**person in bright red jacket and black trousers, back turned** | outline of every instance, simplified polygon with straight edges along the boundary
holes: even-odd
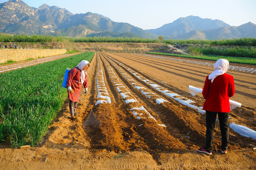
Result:
[[[230,63],[226,59],[218,59],[212,74],[206,77],[203,86],[203,110],[206,111],[206,141],[205,147],[197,151],[212,154],[212,139],[216,116],[221,128],[221,153],[227,153],[229,145],[229,99],[235,94],[234,78],[226,74]]]

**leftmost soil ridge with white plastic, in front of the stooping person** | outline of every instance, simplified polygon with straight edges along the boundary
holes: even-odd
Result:
[[[94,112],[90,112],[84,125],[90,127],[92,136],[92,147],[96,149],[107,149],[115,152],[126,151],[129,144],[123,139],[122,122],[119,122],[120,111],[115,103],[112,103],[109,94],[109,86],[106,81],[105,70],[97,54],[96,85],[97,102]],[[113,98],[113,97],[112,97]]]

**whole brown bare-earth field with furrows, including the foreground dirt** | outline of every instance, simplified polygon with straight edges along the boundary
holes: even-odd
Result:
[[[101,99],[97,97],[98,68],[103,70],[111,104],[95,106],[95,102]],[[256,152],[251,150],[256,141],[240,136],[232,129],[228,154],[217,152],[221,142],[217,122],[213,155],[197,153],[196,149],[204,144],[205,115],[156,91],[130,72],[137,72],[141,77],[202,105],[202,97],[192,97],[186,88],[187,85],[202,87],[204,77],[211,70],[209,67],[135,54],[98,53],[88,70],[89,93],[81,94],[94,112],[90,113],[88,107],[80,102],[80,113],[75,120],[71,120],[66,101],[59,116],[36,147],[11,149],[1,146],[0,169],[256,169]],[[235,78],[237,89],[233,100],[244,105],[230,113],[230,121],[256,130],[256,76],[239,72],[230,74]],[[138,102],[126,103],[116,88],[117,81],[122,84],[118,86],[119,89],[129,91]],[[149,98],[141,93],[138,86],[152,96]],[[168,102],[157,104],[157,98]],[[136,104],[142,105],[155,120],[150,117],[137,119],[130,110]]]

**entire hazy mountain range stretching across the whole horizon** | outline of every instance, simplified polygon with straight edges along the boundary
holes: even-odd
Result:
[[[256,38],[256,25],[249,22],[230,26],[215,19],[196,16],[180,17],[157,29],[143,30],[128,23],[119,23],[100,14],[73,14],[67,9],[43,4],[28,6],[22,0],[0,3],[0,32],[7,34],[49,34],[71,37],[138,37],[155,39],[233,39]]]

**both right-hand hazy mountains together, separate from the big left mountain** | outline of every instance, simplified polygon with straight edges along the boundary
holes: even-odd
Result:
[[[196,16],[180,17],[172,23],[146,31],[171,39],[256,38],[256,25],[251,22],[241,26],[230,26],[218,19],[203,19]]]

